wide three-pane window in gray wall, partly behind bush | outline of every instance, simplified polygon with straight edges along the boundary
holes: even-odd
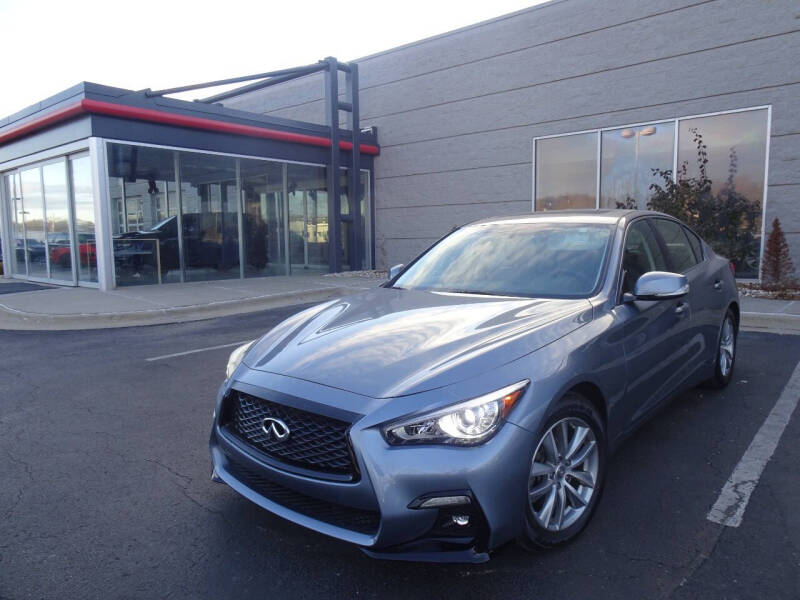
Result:
[[[757,277],[768,122],[767,108],[753,108],[538,138],[535,209],[659,209],[672,204],[677,178],[686,206],[676,216],[730,258],[737,276]]]

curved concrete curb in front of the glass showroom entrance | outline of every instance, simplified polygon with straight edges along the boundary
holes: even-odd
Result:
[[[53,315],[19,311],[0,306],[0,329],[14,331],[65,331],[112,329],[143,325],[185,323],[246,314],[310,302],[324,302],[361,291],[356,287],[330,287],[303,292],[270,294],[209,304],[156,308],[132,312]]]

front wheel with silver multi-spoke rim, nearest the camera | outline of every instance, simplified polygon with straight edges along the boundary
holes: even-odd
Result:
[[[561,437],[564,424],[566,444]],[[565,459],[560,450],[563,447],[569,450],[571,443],[580,437],[579,428],[588,431],[580,433],[584,436],[583,441],[569,455],[569,459]],[[552,438],[549,437],[551,435]],[[564,396],[555,412],[545,421],[536,440],[531,454],[523,535],[519,539],[520,545],[528,550],[554,548],[575,539],[591,520],[602,496],[606,477],[607,448],[603,420],[594,405],[581,394],[569,392]],[[590,444],[593,444],[593,450],[587,451]],[[578,463],[581,455],[584,460]],[[545,506],[550,502],[551,495],[554,506],[548,516]],[[583,506],[581,502],[584,502]],[[560,514],[559,506],[563,507]],[[561,520],[557,522],[559,517]],[[548,526],[545,527],[544,523]]]

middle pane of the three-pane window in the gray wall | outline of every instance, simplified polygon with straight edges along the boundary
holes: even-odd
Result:
[[[647,209],[650,184],[672,176],[675,123],[608,129],[600,140],[600,207]]]

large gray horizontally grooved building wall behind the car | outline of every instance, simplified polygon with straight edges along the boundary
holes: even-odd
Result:
[[[407,262],[456,222],[530,209],[531,142],[772,105],[767,218],[800,264],[796,0],[564,0],[359,60],[377,125],[376,257]],[[299,81],[231,106],[308,119]],[[478,207],[478,208],[476,208]]]

